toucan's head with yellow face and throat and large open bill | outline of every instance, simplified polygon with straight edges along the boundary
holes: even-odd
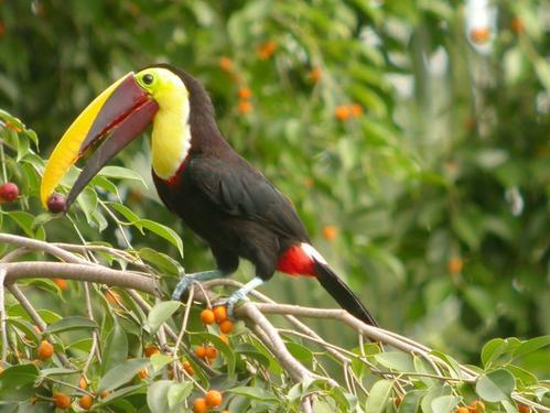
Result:
[[[192,106],[203,107],[202,111],[213,119],[202,86],[169,65],[150,66],[115,81],[84,109],[52,152],[42,178],[42,204],[47,205],[71,165],[91,152],[71,188],[65,206],[68,208],[99,170],[150,123],[153,170],[159,177],[169,180],[191,148]]]

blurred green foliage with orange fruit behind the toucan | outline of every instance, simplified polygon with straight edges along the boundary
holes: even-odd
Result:
[[[490,337],[550,334],[550,9],[492,4],[0,1],[0,107],[46,156],[114,79],[155,62],[188,70],[380,324],[475,362]],[[150,182],[147,145],[119,162]],[[187,271],[213,267],[151,184],[120,191],[184,233]],[[69,233],[60,220],[46,230]],[[237,278],[250,276],[241,265]],[[309,280],[262,290],[334,306]],[[316,326],[333,343],[353,337],[331,327]],[[548,373],[550,354],[538,357],[531,368]]]

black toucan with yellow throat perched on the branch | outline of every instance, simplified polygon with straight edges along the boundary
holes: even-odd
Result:
[[[161,200],[212,249],[217,268],[183,274],[172,295],[193,281],[234,273],[249,260],[256,276],[227,300],[228,312],[276,271],[315,278],[352,315],[376,326],[373,315],[334,272],[294,207],[224,139],[204,87],[168,64],[129,73],[76,118],[45,166],[41,200],[46,207],[71,165],[90,152],[71,187],[68,208],[107,162],[152,123],[152,177]]]

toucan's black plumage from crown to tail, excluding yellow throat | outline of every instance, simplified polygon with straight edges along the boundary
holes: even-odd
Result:
[[[291,202],[223,138],[202,85],[170,65],[157,66],[172,70],[185,84],[191,128],[191,149],[177,176],[164,181],[153,171],[161,199],[209,244],[220,271],[234,272],[239,258],[245,258],[256,267],[256,275],[269,280],[289,249],[310,243],[303,224]],[[345,309],[376,325],[326,263],[311,261],[315,274],[309,275],[316,275]]]

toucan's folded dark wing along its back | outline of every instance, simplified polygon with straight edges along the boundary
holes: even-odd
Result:
[[[185,178],[226,214],[261,222],[282,236],[308,240],[289,198],[244,159],[226,162],[194,157],[185,169]]]

